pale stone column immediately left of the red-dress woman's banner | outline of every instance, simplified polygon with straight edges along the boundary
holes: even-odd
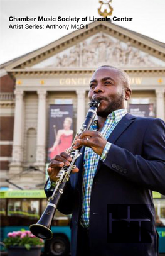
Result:
[[[38,90],[38,127],[36,141],[36,163],[40,170],[45,169],[46,157],[46,90]]]

